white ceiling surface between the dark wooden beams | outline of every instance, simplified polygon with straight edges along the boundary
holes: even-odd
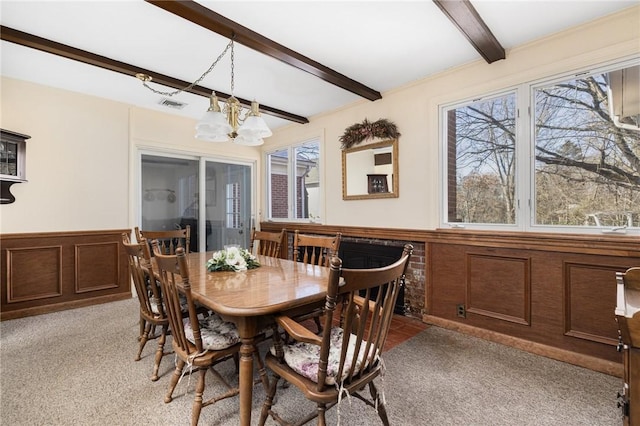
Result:
[[[483,60],[431,1],[199,1],[203,6],[384,94]],[[637,5],[637,0],[472,0],[500,44],[520,44]],[[3,26],[193,82],[228,40],[142,0],[0,1]],[[200,118],[206,98],[181,93],[182,110],[133,77],[2,41],[3,76]],[[491,66],[487,64],[487,66]],[[227,55],[200,85],[230,93]],[[159,90],[174,89],[156,86]],[[276,59],[235,46],[235,91],[312,117],[362,98]],[[368,102],[368,101],[367,101]],[[263,115],[272,128],[283,119]]]

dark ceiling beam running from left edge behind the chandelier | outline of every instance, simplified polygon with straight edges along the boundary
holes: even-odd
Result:
[[[147,74],[153,78],[154,83],[172,87],[174,89],[185,89],[190,85],[189,82],[183,80],[178,80],[176,78],[160,74],[155,71],[116,61],[114,59],[107,58],[106,56],[96,55],[95,53],[87,52],[86,50],[77,49],[66,44],[38,37],[33,34],[25,33],[10,27],[5,27],[4,25],[0,25],[0,39],[22,46],[30,47],[32,49],[40,50],[42,52],[62,56],[67,59],[73,59],[85,64],[94,65],[96,67],[100,67],[109,71],[129,75],[131,77],[135,77],[138,73]],[[212,89],[204,86],[193,86],[192,88],[185,90],[185,92],[204,96],[206,98],[211,95],[212,91]],[[216,95],[221,99],[227,99],[230,96],[226,93],[218,92],[217,90]],[[242,98],[237,99],[242,105],[245,105],[247,107],[251,106],[250,100]],[[277,108],[272,108],[263,104],[260,104],[260,112],[271,115],[273,117],[293,121],[295,123],[306,124],[309,122],[306,117],[282,111]]]

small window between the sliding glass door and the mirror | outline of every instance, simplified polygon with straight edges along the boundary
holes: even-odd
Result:
[[[267,153],[268,219],[320,218],[320,142]]]

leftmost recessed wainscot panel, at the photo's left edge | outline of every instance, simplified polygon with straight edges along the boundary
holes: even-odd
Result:
[[[7,249],[7,303],[62,295],[62,246]]]

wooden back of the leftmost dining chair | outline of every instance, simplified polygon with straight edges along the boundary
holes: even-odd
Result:
[[[129,260],[129,272],[138,296],[141,314],[146,319],[164,317],[160,289],[156,280],[150,279],[153,277],[153,266],[149,244],[144,238],[135,243],[131,242],[127,233],[122,234],[122,244]],[[156,307],[157,314],[154,314],[152,304]]]

